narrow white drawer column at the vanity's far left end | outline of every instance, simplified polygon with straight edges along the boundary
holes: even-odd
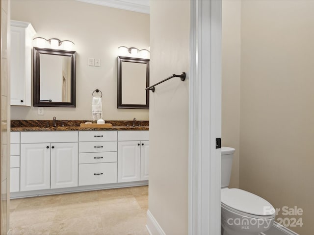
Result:
[[[20,132],[11,132],[10,192],[20,191]]]

